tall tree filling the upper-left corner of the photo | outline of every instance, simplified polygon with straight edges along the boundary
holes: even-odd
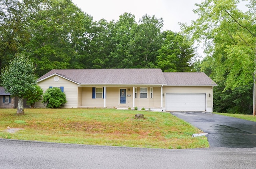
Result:
[[[0,0],[0,70],[29,42],[29,13],[38,1]]]

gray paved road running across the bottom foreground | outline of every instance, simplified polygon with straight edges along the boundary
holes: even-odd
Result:
[[[255,169],[256,148],[146,149],[0,139],[0,169]]]

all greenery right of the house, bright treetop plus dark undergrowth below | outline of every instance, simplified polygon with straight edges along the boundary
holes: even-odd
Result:
[[[194,10],[198,19],[182,25],[194,40],[204,41],[208,55],[197,69],[218,84],[214,87],[214,111],[248,114],[252,111],[255,71],[255,1],[247,11],[238,8],[240,0],[204,0]]]

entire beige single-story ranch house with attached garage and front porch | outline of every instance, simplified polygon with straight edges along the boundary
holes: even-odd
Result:
[[[53,69],[38,80],[45,91],[58,87],[65,108],[162,108],[212,112],[216,83],[201,72],[161,69]],[[36,108],[45,107],[42,100]]]

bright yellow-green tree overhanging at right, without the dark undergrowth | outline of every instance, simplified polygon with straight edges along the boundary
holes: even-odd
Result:
[[[250,1],[247,12],[238,9],[239,2],[204,0],[194,10],[199,18],[191,26],[182,25],[194,39],[205,41],[205,52],[216,64],[213,79],[225,85],[223,92],[241,87],[249,90],[245,86],[255,84],[255,1]]]

